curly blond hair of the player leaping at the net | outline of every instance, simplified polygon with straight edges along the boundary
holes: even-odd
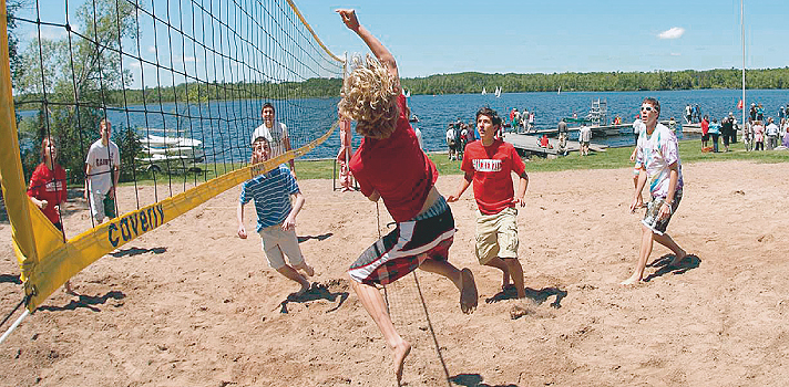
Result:
[[[371,55],[355,56],[353,69],[342,82],[340,116],[357,122],[356,132],[365,137],[388,138],[394,132],[400,94],[398,80]]]

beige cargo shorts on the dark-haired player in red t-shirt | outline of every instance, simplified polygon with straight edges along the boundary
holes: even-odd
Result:
[[[518,210],[505,208],[499,213],[477,212],[477,260],[486,264],[492,259],[518,258]]]

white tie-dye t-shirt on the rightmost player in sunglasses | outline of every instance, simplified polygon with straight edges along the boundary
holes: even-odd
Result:
[[[654,198],[668,196],[670,177],[668,166],[674,163],[677,163],[678,172],[676,190],[680,190],[683,188],[683,166],[679,163],[677,136],[663,124],[657,124],[652,135],[644,130],[638,136],[636,165],[643,165],[646,169],[646,181]]]

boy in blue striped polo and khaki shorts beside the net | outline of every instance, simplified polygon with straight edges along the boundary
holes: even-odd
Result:
[[[271,148],[265,137],[255,138],[252,163],[267,160]],[[290,205],[291,195],[295,197],[294,205]],[[309,281],[298,271],[304,271],[308,276],[312,276],[315,271],[301,255],[296,238],[296,215],[301,210],[305,201],[296,179],[285,165],[280,165],[244,182],[237,211],[240,239],[247,238],[244,228],[244,205],[252,199],[255,199],[257,212],[257,233],[263,240],[263,251],[266,252],[268,263],[274,270],[301,285],[295,295],[304,294],[309,290]],[[285,263],[284,255],[288,257],[290,264]]]

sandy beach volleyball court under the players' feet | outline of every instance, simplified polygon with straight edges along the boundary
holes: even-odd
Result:
[[[518,216],[526,301],[477,263],[467,191],[451,206],[450,261],[474,272],[480,304],[462,314],[454,286],[421,271],[387,287],[413,345],[403,384],[788,385],[788,166],[684,166],[668,233],[693,257],[669,270],[656,244],[648,281],[629,287],[619,282],[641,236],[631,169],[530,174]],[[449,195],[461,178],[441,176],[438,188]],[[79,296],[55,292],[0,345],[0,385],[396,386],[391,353],[346,275],[378,238],[376,205],[330,180],[299,185],[297,233],[316,269],[307,295],[289,297],[298,285],[268,266],[257,236],[238,239],[234,188],[86,268],[72,279]],[[132,203],[134,188],[120,200]],[[81,198],[65,213],[66,233],[90,227]],[[390,221],[381,205],[382,232]],[[0,222],[2,316],[22,297],[10,239]],[[514,306],[525,315],[511,318]]]

